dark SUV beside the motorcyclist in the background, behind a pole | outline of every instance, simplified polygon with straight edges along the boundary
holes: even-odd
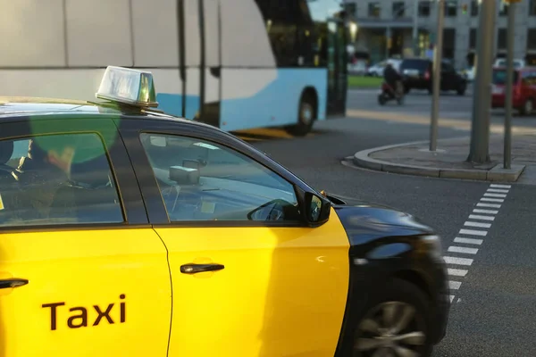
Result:
[[[404,83],[404,89],[408,93],[411,89],[427,89],[432,91],[432,69],[431,60],[426,58],[406,58],[400,63],[399,71]],[[456,91],[458,95],[465,95],[467,80],[462,77],[454,66],[443,60],[441,62],[441,83],[440,90]]]

